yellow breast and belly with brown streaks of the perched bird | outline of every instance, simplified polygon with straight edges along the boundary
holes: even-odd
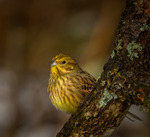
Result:
[[[81,98],[74,97],[74,93],[67,88],[69,84],[69,81],[58,78],[56,82],[51,82],[48,90],[50,90],[49,97],[51,102],[57,109],[73,113],[76,111]]]

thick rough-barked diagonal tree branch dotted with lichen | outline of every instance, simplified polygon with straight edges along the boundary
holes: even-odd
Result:
[[[87,96],[57,137],[107,137],[132,104],[149,111],[150,2],[128,0],[97,88]]]

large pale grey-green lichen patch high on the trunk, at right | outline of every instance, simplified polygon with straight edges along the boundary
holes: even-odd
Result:
[[[135,50],[141,51],[142,47],[140,46],[140,44],[137,44],[134,41],[132,41],[127,45],[127,51],[128,51],[127,56],[130,57],[132,61],[133,58],[139,58],[138,53]]]

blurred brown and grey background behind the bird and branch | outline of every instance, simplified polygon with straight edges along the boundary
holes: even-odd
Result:
[[[95,78],[111,54],[124,0],[0,0],[0,137],[54,137],[69,118],[48,97],[51,58],[72,55]],[[150,117],[112,137],[149,137]]]

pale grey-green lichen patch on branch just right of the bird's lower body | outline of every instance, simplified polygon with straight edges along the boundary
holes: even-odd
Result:
[[[103,96],[100,98],[98,102],[98,107],[105,107],[109,101],[112,99],[117,99],[117,95],[115,93],[110,93],[107,88],[104,89]]]

